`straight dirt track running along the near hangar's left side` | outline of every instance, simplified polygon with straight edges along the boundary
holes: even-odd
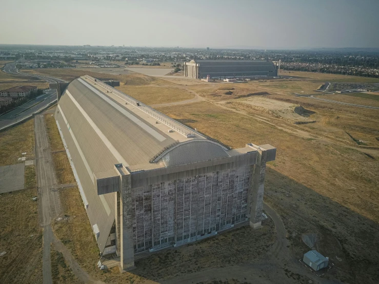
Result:
[[[50,191],[50,188],[56,186],[57,182],[43,115],[36,115],[34,118],[34,134],[39,196],[38,216],[39,225],[44,228],[43,283],[50,284],[52,283],[50,244],[54,237],[50,223],[61,212],[61,203],[59,202],[59,192]]]

